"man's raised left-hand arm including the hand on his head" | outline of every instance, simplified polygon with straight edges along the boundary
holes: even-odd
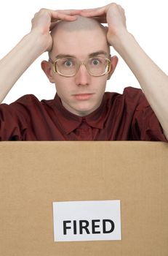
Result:
[[[50,31],[57,20],[76,20],[79,10],[52,11],[41,9],[32,20],[31,32],[0,61],[0,102],[7,96],[23,72],[41,53],[52,48]]]

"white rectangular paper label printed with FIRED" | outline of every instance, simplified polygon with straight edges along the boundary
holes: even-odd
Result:
[[[55,241],[121,240],[120,200],[54,202]]]

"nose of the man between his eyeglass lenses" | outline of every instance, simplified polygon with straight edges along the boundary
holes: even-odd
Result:
[[[81,64],[79,70],[75,76],[75,81],[77,86],[89,86],[90,83],[90,75],[87,72],[87,68],[84,64]]]

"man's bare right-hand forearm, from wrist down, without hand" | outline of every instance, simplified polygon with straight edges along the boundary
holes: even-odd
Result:
[[[167,75],[140,48],[132,34],[124,31],[119,37],[113,39],[113,47],[139,81],[168,139]]]

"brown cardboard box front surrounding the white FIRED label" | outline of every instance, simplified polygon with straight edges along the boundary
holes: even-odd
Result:
[[[53,201],[121,200],[121,241],[54,242]],[[168,145],[0,143],[1,256],[167,256]]]

